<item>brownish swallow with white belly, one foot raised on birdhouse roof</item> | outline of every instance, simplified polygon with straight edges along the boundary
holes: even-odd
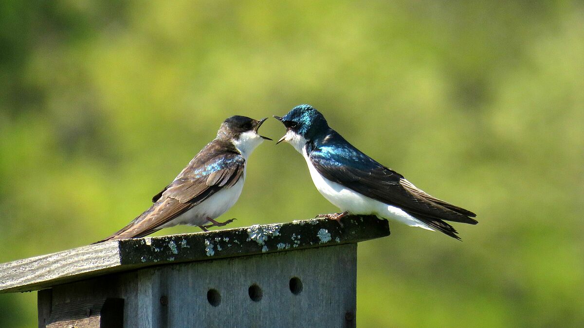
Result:
[[[267,118],[232,116],[221,124],[217,137],[194,156],[175,180],[152,198],[154,203],[130,224],[106,239],[140,238],[179,224],[203,231],[224,226],[215,221],[238,200],[244,187],[246,162],[264,139],[258,128]],[[209,225],[205,225],[208,224]]]

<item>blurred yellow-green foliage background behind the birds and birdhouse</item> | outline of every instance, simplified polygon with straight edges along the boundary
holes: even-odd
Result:
[[[0,262],[104,238],[224,118],[310,103],[478,214],[464,242],[390,222],[361,243],[359,326],[581,327],[583,76],[582,2],[2,1]],[[335,210],[266,142],[223,219]],[[35,325],[36,293],[0,295],[1,327]]]

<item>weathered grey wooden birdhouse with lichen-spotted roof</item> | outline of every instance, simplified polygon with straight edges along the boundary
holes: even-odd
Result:
[[[357,242],[346,217],[124,239],[0,264],[0,292],[39,290],[39,327],[354,327]]]

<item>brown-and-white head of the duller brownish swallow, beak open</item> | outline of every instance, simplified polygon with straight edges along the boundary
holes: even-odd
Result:
[[[258,134],[259,127],[266,120],[267,117],[258,121],[247,116],[231,116],[221,124],[217,138],[231,141],[235,148],[247,157],[264,140],[272,140]]]

